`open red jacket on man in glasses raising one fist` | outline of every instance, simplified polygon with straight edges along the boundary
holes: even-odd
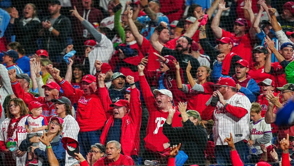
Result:
[[[122,151],[125,155],[139,155],[139,143],[140,143],[140,126],[142,108],[140,101],[140,91],[137,88],[131,89],[130,98],[130,111],[124,117],[122,117],[122,135],[120,143],[122,145]],[[114,117],[111,116],[106,122],[102,134],[100,136],[100,143],[105,145],[105,142],[110,126],[113,126]]]

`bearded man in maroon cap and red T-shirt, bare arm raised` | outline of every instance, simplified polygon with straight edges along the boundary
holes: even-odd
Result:
[[[237,18],[234,22],[233,33],[227,32],[219,27],[222,12],[228,9],[229,8],[226,8],[226,3],[224,1],[219,2],[218,12],[215,14],[211,22],[212,31],[218,39],[222,37],[231,38],[233,40],[232,52],[238,54],[242,59],[247,60],[249,64],[251,64],[253,62],[251,56],[252,46],[250,44],[249,33],[246,34],[246,29],[248,28],[247,20],[243,18]]]

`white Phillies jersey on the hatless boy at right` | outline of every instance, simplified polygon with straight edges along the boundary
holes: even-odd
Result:
[[[259,142],[256,141],[256,139],[262,138],[265,133],[272,132],[271,125],[266,124],[266,121],[264,121],[264,117],[259,119],[256,122],[251,121],[250,122],[250,140],[253,140],[253,145],[249,147],[250,154],[259,155],[262,154],[262,150],[260,148],[260,144],[263,143],[264,145],[269,146],[272,143],[272,140],[269,142]],[[272,134],[271,134],[272,135]]]

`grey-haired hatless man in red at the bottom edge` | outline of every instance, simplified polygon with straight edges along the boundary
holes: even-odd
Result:
[[[104,165],[135,165],[131,157],[122,155],[121,144],[117,141],[109,141],[106,145],[106,157],[97,160],[93,166]]]

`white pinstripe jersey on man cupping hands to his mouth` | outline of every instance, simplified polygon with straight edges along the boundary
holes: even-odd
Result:
[[[243,139],[249,139],[249,120],[251,103],[244,94],[236,93],[226,102],[235,107],[242,107],[247,110],[247,113],[242,118],[234,117],[224,109],[224,105],[217,102],[213,110],[214,126],[213,135],[215,145],[228,145],[224,143],[226,137],[230,138],[232,133],[234,143]]]

